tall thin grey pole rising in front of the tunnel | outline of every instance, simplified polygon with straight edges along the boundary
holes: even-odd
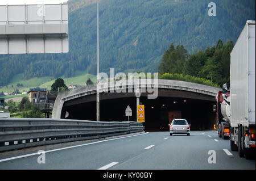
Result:
[[[98,12],[98,0],[97,0],[97,100],[96,100],[96,106],[97,106],[97,113],[96,113],[96,119],[97,121],[100,121],[100,92],[98,90],[98,82],[100,74],[100,33],[99,33],[99,12]]]

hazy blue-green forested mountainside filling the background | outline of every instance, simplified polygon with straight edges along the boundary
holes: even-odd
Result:
[[[69,53],[0,56],[0,86],[15,74],[72,77],[76,70],[96,74],[95,0],[69,2]],[[255,0],[101,0],[100,71],[158,71],[171,43],[188,53],[221,39],[236,43],[247,19],[255,19]]]

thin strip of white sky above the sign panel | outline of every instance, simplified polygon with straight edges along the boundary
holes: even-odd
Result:
[[[67,2],[68,0],[0,0],[0,5],[40,5]]]

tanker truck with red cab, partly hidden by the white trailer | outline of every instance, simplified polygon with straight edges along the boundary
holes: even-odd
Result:
[[[213,106],[213,111],[217,113],[218,137],[225,140],[230,136],[230,91],[227,89],[226,84],[222,88],[223,91],[219,91],[216,96],[217,105]]]

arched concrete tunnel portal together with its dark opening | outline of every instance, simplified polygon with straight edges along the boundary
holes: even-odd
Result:
[[[111,83],[109,83],[111,85]],[[131,85],[130,85],[131,86]],[[125,109],[129,105],[133,111],[130,120],[137,120],[137,96],[135,85],[133,92],[113,91],[116,87],[108,86],[100,94],[100,120],[124,121]],[[146,85],[139,85],[143,89]],[[153,86],[153,85],[152,85]],[[128,89],[122,87],[122,89]],[[168,124],[174,118],[187,119],[191,130],[213,129],[216,124],[216,114],[213,104],[219,88],[197,83],[158,79],[158,96],[148,99],[151,93],[142,92],[139,102],[145,106],[146,131],[168,130]],[[96,120],[96,86],[64,92],[57,96],[52,117],[55,119]]]

